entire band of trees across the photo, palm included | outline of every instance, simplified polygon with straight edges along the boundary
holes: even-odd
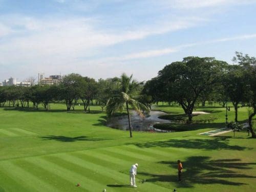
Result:
[[[225,106],[231,101],[236,122],[239,103],[252,107],[249,129],[255,137],[251,121],[256,114],[256,58],[236,52],[233,62],[235,65],[214,57],[185,57],[166,65],[145,83],[125,74],[96,81],[72,73],[63,77],[59,86],[1,87],[0,106],[8,103],[25,108],[32,102],[33,108],[42,104],[49,110],[50,103],[64,102],[70,111],[81,101],[84,111],[90,113],[90,104],[95,100],[102,111],[106,107],[108,115],[125,108],[129,116],[130,107],[143,116],[141,112],[148,111],[152,103],[177,102],[188,117],[187,123],[191,123],[196,102],[204,105],[205,101],[217,101]]]

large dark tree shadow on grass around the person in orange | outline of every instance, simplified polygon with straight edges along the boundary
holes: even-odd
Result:
[[[160,164],[167,164],[177,169],[176,162],[160,161]],[[177,187],[194,187],[194,184],[222,184],[222,185],[245,185],[243,178],[256,178],[246,174],[240,174],[241,169],[251,169],[250,165],[256,163],[243,163],[240,159],[218,159],[210,160],[206,156],[188,157],[182,162],[185,171],[182,174],[182,181],[178,182],[177,175],[158,175],[150,173],[140,173],[148,177],[150,182],[175,182]],[[232,170],[230,170],[232,169]],[[236,170],[237,169],[237,170]],[[241,178],[240,182],[233,181],[232,178]]]

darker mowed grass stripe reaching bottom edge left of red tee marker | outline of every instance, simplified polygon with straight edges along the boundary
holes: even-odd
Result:
[[[42,167],[37,161],[31,160],[31,158],[26,158],[19,160],[24,166],[29,167],[28,172],[30,172],[35,177],[39,177],[51,185],[57,187],[60,191],[72,191],[74,190],[75,184],[70,182],[68,179],[60,178],[52,170],[47,170],[46,167]]]

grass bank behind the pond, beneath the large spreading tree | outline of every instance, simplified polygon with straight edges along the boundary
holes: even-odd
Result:
[[[160,118],[168,119],[172,121],[172,123],[159,123],[154,125],[157,129],[162,130],[172,130],[172,131],[189,131],[189,130],[198,130],[203,128],[211,128],[211,129],[219,129],[225,127],[225,115],[226,109],[220,108],[220,106],[205,106],[198,107],[195,112],[203,111],[210,114],[204,115],[195,115],[193,117],[193,124],[186,124],[187,115],[184,114],[184,111],[181,107],[174,106],[170,107],[168,105],[158,105],[153,106],[153,110],[159,110],[166,113],[167,115],[163,115]],[[250,109],[251,110],[251,109]],[[228,122],[234,122],[234,109],[231,107],[230,111],[227,111]],[[248,120],[248,108],[241,107],[238,109],[238,121],[240,123],[247,122]],[[256,121],[253,121],[254,126],[256,125]]]

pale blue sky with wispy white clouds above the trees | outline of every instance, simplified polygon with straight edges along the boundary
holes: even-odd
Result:
[[[0,82],[78,73],[139,81],[187,56],[256,56],[256,0],[0,0]]]

